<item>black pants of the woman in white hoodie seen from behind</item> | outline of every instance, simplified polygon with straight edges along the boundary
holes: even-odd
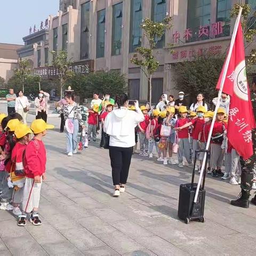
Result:
[[[126,184],[132,159],[132,153],[133,147],[109,147],[109,156],[111,161],[112,179],[114,186],[119,185],[120,183]]]

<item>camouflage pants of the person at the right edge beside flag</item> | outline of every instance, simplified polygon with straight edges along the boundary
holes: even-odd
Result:
[[[256,170],[256,130],[252,130],[252,143],[253,143],[253,155],[244,160],[241,157],[241,189],[247,192],[247,197],[250,197],[250,191],[252,190],[253,172]]]

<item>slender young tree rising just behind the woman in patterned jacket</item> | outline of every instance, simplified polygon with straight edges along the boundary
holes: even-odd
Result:
[[[69,67],[72,66],[73,62],[71,59],[68,59],[68,53],[66,51],[51,51],[53,55],[52,67],[57,71],[57,77],[60,83],[60,97],[62,97],[62,90],[66,82],[72,78],[75,73],[69,70]]]

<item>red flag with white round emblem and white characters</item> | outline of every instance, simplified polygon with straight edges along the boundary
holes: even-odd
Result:
[[[220,89],[224,67],[219,77],[217,89]],[[241,22],[238,25],[223,92],[230,95],[227,130],[228,140],[240,156],[248,159],[253,154],[251,131],[255,127],[255,120],[252,113],[250,90],[246,78],[244,39]]]

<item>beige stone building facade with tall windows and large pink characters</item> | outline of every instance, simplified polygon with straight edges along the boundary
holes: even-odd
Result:
[[[161,93],[175,94],[176,62],[196,54],[223,53],[230,43],[234,19],[230,9],[235,3],[254,0],[76,0],[60,1],[60,11],[49,18],[48,44],[34,45],[34,68],[39,74],[46,66],[45,52],[67,50],[77,65],[77,73],[117,70],[126,74],[131,99],[148,100],[148,81],[130,62],[138,46],[147,45],[141,22],[145,18],[162,21],[173,17],[173,27],[157,38],[155,55],[159,67],[153,77],[153,102]],[[63,2],[69,5],[64,8]],[[66,5],[65,5],[66,6]],[[174,53],[166,51],[174,43]],[[51,54],[47,61],[51,62]],[[43,71],[45,73],[45,71]]]

